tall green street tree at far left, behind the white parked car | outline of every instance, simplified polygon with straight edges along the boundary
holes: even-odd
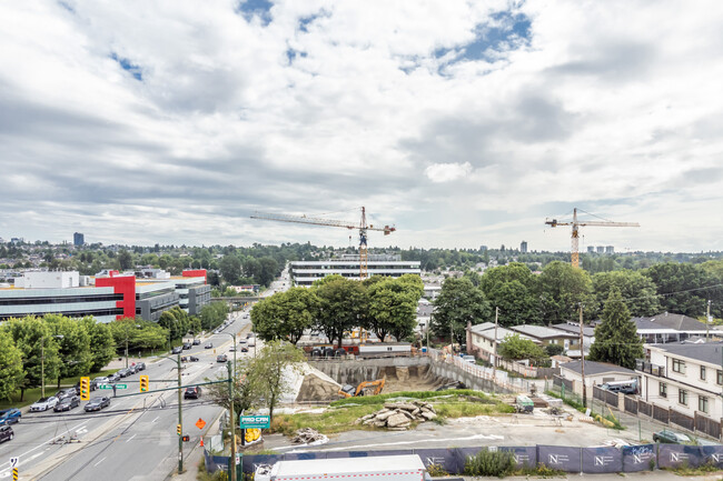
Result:
[[[42,383],[43,351],[46,379],[58,378],[60,368],[58,343],[52,337],[50,328],[41,319],[32,315],[3,322],[2,329],[10,333],[14,345],[21,353],[22,370],[26,373],[19,385],[20,401],[22,401],[26,390],[37,388]]]

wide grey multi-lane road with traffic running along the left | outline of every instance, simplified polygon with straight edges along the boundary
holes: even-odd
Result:
[[[202,382],[205,378],[226,374],[226,364],[217,363],[216,355],[227,353],[231,337],[248,331],[250,321],[245,313],[231,313],[232,322],[221,333],[204,339],[201,345],[184,351],[182,355],[197,355],[198,362],[182,364],[184,385]],[[212,342],[216,349],[204,349]],[[237,352],[237,357],[252,355]],[[175,357],[174,357],[175,358]],[[128,390],[117,394],[138,392],[139,375],[150,378],[150,389],[177,385],[177,363],[174,359],[158,359],[147,362],[141,373],[131,374],[119,383],[127,383]],[[112,391],[97,390],[91,398]],[[9,459],[19,458],[20,479],[56,480],[159,480],[165,479],[178,464],[178,394],[176,390],[162,393],[115,398],[109,408],[100,412],[86,413],[80,408],[65,413],[47,411],[28,413],[20,423],[13,424],[16,438],[0,444],[0,481],[10,479]],[[184,433],[191,437],[184,443],[186,452],[199,442],[201,433],[195,423],[199,418],[208,425],[220,414],[221,409],[201,398],[182,402]],[[206,427],[207,429],[208,427]],[[71,437],[77,441],[63,442]]]

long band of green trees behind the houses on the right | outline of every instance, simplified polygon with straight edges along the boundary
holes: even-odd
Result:
[[[488,269],[483,275],[469,272],[444,281],[435,300],[433,330],[437,335],[463,342],[467,322],[494,321],[499,309],[502,325],[552,324],[578,319],[598,319],[613,291],[617,291],[633,317],[663,311],[694,318],[723,317],[723,261],[701,264],[662,263],[643,271],[621,270],[590,275],[570,263],[554,261],[541,274],[513,262]]]

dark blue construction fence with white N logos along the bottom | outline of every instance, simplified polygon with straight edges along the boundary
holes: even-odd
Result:
[[[658,468],[697,468],[715,465],[723,468],[723,445],[679,445],[679,444],[641,444],[621,449],[612,447],[578,448],[565,445],[526,445],[526,447],[474,447],[439,448],[387,451],[320,451],[287,454],[244,455],[241,467],[245,473],[252,473],[260,464],[274,464],[283,460],[374,458],[377,455],[418,454],[425,467],[435,464],[449,474],[463,474],[468,457],[483,449],[509,451],[517,468],[545,465],[565,472],[616,473],[652,471]],[[211,459],[209,459],[211,458]],[[206,467],[209,471],[227,469],[221,457],[207,454]]]

